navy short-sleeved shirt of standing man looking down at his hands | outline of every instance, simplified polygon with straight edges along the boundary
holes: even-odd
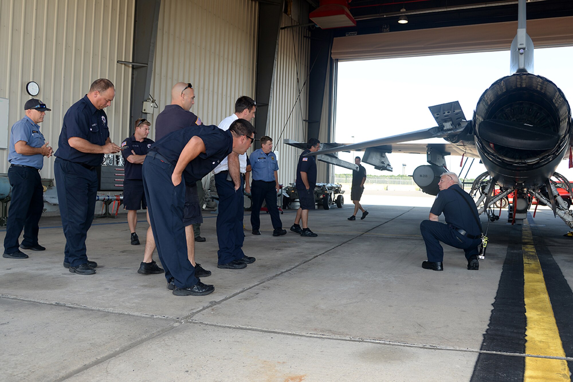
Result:
[[[86,94],[83,99],[73,104],[65,113],[60,139],[58,140],[58,149],[54,155],[70,162],[101,166],[104,159],[103,154],[78,151],[69,145],[68,139],[79,137],[90,143],[103,146],[109,137],[107,123],[105,112],[96,109]]]

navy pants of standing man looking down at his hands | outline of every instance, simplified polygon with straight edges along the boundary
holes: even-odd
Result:
[[[77,267],[88,262],[85,238],[96,208],[97,171],[56,158],[54,176],[62,227],[66,237],[64,262]],[[103,239],[103,238],[102,238]]]

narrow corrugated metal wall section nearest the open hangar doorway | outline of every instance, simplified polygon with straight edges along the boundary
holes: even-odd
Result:
[[[288,15],[282,16],[282,26],[296,23]],[[267,135],[273,139],[273,151],[277,152],[279,160],[278,182],[285,186],[296,180],[296,165],[302,151],[283,144],[282,140],[308,139],[307,123],[303,120],[308,118],[307,90],[311,44],[305,36],[310,36],[306,28],[280,31],[272,101],[269,105]]]

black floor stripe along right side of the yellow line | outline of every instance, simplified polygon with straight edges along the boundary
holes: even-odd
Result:
[[[563,342],[563,350],[567,357],[573,357],[573,292],[563,276],[559,265],[555,262],[551,251],[545,245],[539,227],[529,219],[533,244],[537,258],[543,270],[545,286],[551,300],[555,322],[559,329],[559,336]],[[568,361],[569,369],[573,370],[573,361]]]

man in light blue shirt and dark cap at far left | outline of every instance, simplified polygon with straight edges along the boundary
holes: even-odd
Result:
[[[4,254],[9,259],[26,259],[28,255],[19,248],[43,251],[38,244],[38,222],[44,208],[44,197],[40,170],[44,166],[44,156],[52,155],[52,147],[40,132],[48,109],[37,99],[26,101],[26,116],[12,126],[8,153],[8,179],[12,186],[10,209],[4,238]],[[24,230],[24,239],[18,239]]]

